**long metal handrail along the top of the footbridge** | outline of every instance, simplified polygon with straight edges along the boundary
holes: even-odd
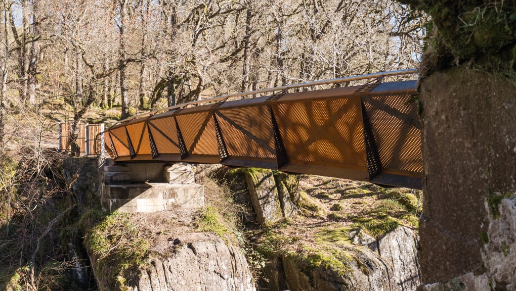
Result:
[[[319,80],[319,81],[313,81],[313,82],[307,82],[307,83],[298,83],[298,84],[291,84],[291,85],[284,85],[280,87],[274,87],[274,88],[268,88],[268,89],[261,89],[256,91],[250,91],[250,92],[240,92],[240,93],[233,93],[228,95],[222,95],[219,97],[211,98],[211,99],[203,99],[203,100],[197,100],[197,101],[190,101],[183,104],[162,108],[162,109],[156,109],[154,111],[140,113],[125,119],[122,119],[121,121],[118,121],[112,126],[118,125],[119,123],[123,123],[126,121],[132,121],[133,119],[136,119],[138,117],[143,117],[147,115],[153,115],[160,111],[167,111],[171,109],[181,108],[188,105],[196,105],[201,104],[205,102],[212,102],[212,101],[218,101],[222,99],[228,99],[231,97],[239,97],[239,96],[246,96],[246,95],[255,95],[255,94],[261,94],[261,93],[267,93],[272,91],[283,91],[288,89],[294,89],[294,88],[303,88],[303,87],[311,87],[311,86],[317,86],[317,85],[327,85],[327,84],[336,84],[336,83],[343,83],[343,82],[349,82],[349,81],[358,81],[358,80],[364,80],[364,79],[372,79],[372,78],[379,78],[379,77],[386,77],[386,76],[401,76],[401,75],[412,75],[417,74],[418,69],[406,69],[406,70],[396,70],[396,71],[390,71],[390,72],[380,72],[380,73],[373,73],[373,74],[366,74],[366,75],[359,75],[359,76],[351,76],[351,77],[343,77],[343,78],[337,78],[337,79],[329,79],[329,80]]]

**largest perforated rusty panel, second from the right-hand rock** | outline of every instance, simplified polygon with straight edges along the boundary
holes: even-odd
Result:
[[[290,161],[366,167],[359,97],[273,106]]]

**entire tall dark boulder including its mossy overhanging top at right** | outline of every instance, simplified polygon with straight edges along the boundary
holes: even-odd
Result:
[[[433,19],[420,75],[422,280],[487,274],[487,201],[516,194],[516,3],[401,2]]]

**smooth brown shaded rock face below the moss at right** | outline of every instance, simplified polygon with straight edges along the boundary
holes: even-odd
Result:
[[[482,269],[484,202],[516,191],[515,92],[507,79],[465,67],[421,81],[424,284]]]

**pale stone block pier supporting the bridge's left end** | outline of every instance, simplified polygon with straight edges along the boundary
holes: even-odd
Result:
[[[204,206],[204,186],[184,163],[107,163],[100,169],[103,210],[158,212]]]

